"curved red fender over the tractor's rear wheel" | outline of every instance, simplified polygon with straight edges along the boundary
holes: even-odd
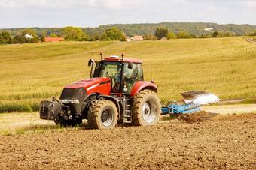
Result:
[[[150,89],[157,92],[157,85],[151,82],[136,82],[136,84],[133,86],[133,90],[131,91],[130,96],[135,96],[142,89]]]

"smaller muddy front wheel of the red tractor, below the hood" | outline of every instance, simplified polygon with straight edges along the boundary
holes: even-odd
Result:
[[[87,119],[91,129],[111,129],[117,124],[117,107],[111,100],[97,100],[90,106]]]

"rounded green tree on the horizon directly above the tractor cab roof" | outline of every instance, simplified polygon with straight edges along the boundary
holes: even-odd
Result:
[[[103,35],[102,40],[120,40],[126,41],[126,36],[117,27],[107,29]]]

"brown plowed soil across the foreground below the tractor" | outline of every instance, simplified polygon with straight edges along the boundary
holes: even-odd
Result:
[[[0,136],[0,169],[256,169],[256,114]]]

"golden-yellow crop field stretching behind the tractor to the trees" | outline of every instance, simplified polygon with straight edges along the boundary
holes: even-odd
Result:
[[[218,97],[256,96],[256,44],[242,37],[142,42],[59,42],[0,46],[0,112],[32,111],[59,97],[64,85],[87,79],[90,58],[125,52],[143,61],[162,103],[179,92],[202,90]]]

